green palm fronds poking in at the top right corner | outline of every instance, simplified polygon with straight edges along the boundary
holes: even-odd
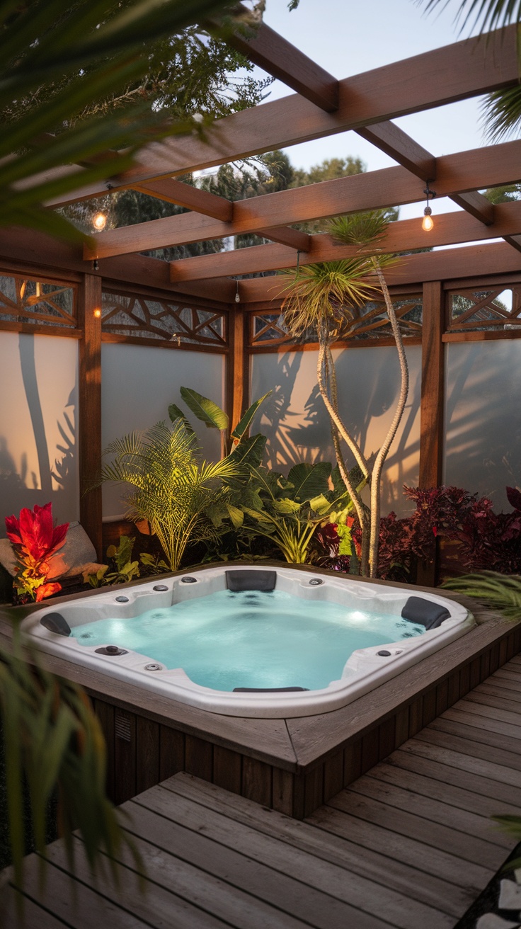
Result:
[[[431,12],[440,3],[445,7],[448,0],[416,0],[424,4]],[[521,75],[521,3],[519,0],[459,0],[456,21],[465,27],[475,29],[479,34],[494,29],[504,29],[511,23],[517,23],[517,58]],[[496,54],[499,50],[496,50]],[[515,134],[521,127],[521,84],[493,91],[488,94],[482,106],[485,131],[493,141]]]

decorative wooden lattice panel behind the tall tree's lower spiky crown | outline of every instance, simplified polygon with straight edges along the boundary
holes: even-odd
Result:
[[[393,297],[393,306],[403,336],[422,334],[422,297],[421,295]],[[387,317],[384,301],[371,301],[363,307],[352,311],[351,321],[347,321],[339,339],[373,340],[392,337],[391,325]],[[273,310],[259,311],[254,314],[251,327],[252,347],[279,346],[293,342],[284,329],[280,313]],[[299,342],[316,342],[314,333],[306,334]]]

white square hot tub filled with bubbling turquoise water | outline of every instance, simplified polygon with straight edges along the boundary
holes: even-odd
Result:
[[[232,716],[336,710],[475,624],[437,594],[299,569],[215,566],[36,610],[37,648]]]

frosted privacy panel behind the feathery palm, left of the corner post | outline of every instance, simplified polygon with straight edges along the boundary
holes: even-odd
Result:
[[[200,394],[224,405],[224,356],[194,351],[176,351],[149,346],[101,346],[101,435],[105,448],[114,438],[135,429],[147,429],[168,420],[168,406],[184,409],[179,387],[193,387]],[[187,410],[202,453],[215,461],[221,455],[220,433],[207,429]],[[121,488],[103,487],[103,516],[124,512]]]

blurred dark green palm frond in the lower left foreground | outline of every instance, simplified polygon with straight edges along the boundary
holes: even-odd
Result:
[[[114,870],[112,859],[124,845],[129,846],[137,870],[142,870],[137,848],[122,830],[119,814],[105,795],[105,742],[89,700],[81,687],[46,672],[36,654],[30,652],[29,657],[32,664],[27,661],[27,651],[22,651],[20,628],[15,622],[12,651],[2,651],[0,661],[0,720],[15,883],[23,886],[23,856],[30,838],[44,856],[47,812],[53,796],[58,799],[60,834],[71,862],[73,831],[80,830],[93,870],[102,850]],[[24,827],[24,781],[31,835]],[[41,864],[44,873],[45,857]]]

